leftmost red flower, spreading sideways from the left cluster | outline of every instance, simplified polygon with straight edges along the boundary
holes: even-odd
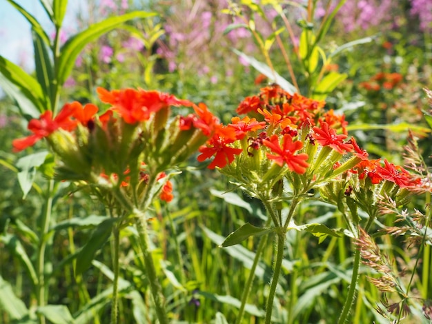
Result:
[[[23,139],[14,139],[12,141],[13,151],[20,152],[35,145],[37,141],[49,136],[59,128],[68,131],[73,130],[77,126],[77,122],[70,119],[72,113],[70,106],[64,105],[55,119],[52,119],[52,111],[50,110],[43,112],[39,119],[32,119],[27,128],[33,134]]]

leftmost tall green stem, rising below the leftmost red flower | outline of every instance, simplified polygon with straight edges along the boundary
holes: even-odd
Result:
[[[42,216],[41,222],[41,234],[39,249],[37,253],[37,305],[46,305],[45,295],[46,295],[46,283],[45,283],[45,252],[46,252],[46,242],[48,240],[47,233],[50,227],[51,213],[52,213],[52,191],[54,190],[54,180],[48,181],[48,190],[46,191],[46,206]],[[45,317],[39,315],[39,322],[45,324]]]

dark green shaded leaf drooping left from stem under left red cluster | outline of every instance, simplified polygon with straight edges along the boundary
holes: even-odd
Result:
[[[96,252],[100,250],[110,238],[112,227],[117,221],[119,221],[117,218],[106,219],[93,230],[90,239],[88,239],[86,245],[84,245],[77,256],[75,274],[83,274],[84,271],[90,267],[92,260],[95,259]]]

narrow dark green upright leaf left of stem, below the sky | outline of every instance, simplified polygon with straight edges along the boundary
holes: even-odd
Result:
[[[46,49],[45,43],[41,39],[40,35],[32,29],[33,47],[35,48],[35,67],[37,81],[41,85],[41,89],[48,98],[51,97],[51,83],[53,80],[52,75],[52,64]],[[51,110],[50,101],[46,101],[47,110]]]

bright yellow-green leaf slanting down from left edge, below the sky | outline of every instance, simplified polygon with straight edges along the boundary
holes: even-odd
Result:
[[[35,78],[27,74],[18,65],[0,56],[0,73],[8,81],[17,86],[32,103],[38,108],[39,112],[46,110],[46,100],[43,96],[41,85]]]

